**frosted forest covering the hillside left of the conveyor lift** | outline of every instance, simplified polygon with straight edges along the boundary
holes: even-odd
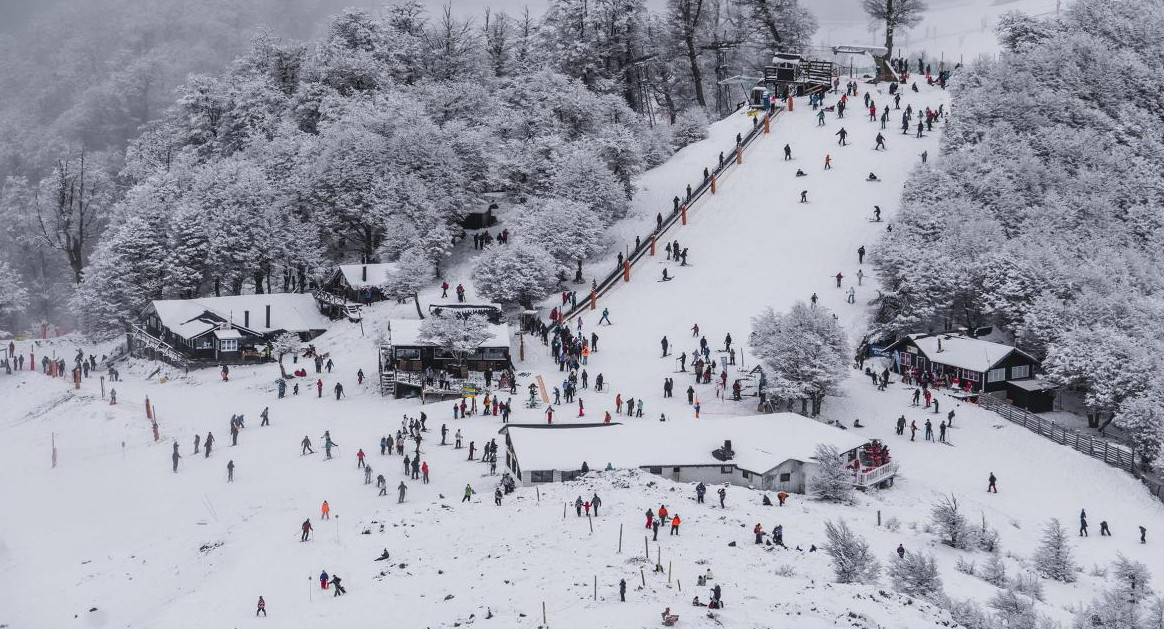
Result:
[[[301,290],[340,261],[436,273],[482,192],[524,204],[531,241],[556,236],[552,263],[526,260],[559,273],[601,250],[639,172],[705,135],[709,44],[732,42],[732,68],[754,70],[816,29],[797,0],[473,17],[405,2],[347,9],[311,41],[279,35],[319,23],[307,2],[170,2],[104,21],[113,33],[85,31],[74,3],[0,38],[22,59],[0,70],[0,270],[28,289],[10,324],[74,316],[99,333],[151,298]],[[77,37],[16,55],[55,22]],[[48,71],[64,57],[71,70]]]

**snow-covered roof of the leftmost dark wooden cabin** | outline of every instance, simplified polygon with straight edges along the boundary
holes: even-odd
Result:
[[[267,325],[267,306],[271,306],[270,326]],[[260,334],[278,330],[310,332],[327,328],[327,319],[315,308],[315,299],[301,292],[156,299],[150,302],[150,308],[163,326],[185,339],[219,327],[220,321],[213,320],[213,317],[203,317],[206,312],[230,321],[235,327],[244,327]],[[243,325],[244,312],[250,312],[250,325]]]

